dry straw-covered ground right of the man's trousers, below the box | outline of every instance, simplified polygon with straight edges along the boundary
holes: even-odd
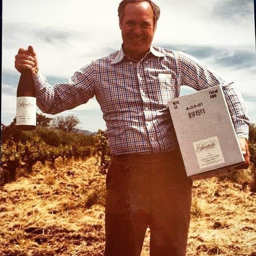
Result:
[[[217,178],[194,182],[187,256],[256,256],[255,213],[249,188]]]

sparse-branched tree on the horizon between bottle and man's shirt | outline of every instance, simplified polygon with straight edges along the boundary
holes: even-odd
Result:
[[[71,132],[76,129],[76,126],[80,123],[78,117],[69,115],[66,117],[58,116],[53,119],[52,126],[56,129],[60,129],[65,132]]]

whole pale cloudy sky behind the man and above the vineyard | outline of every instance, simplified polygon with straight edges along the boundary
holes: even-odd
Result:
[[[250,120],[256,123],[253,0],[155,2],[161,14],[152,45],[188,53],[236,83]],[[65,82],[82,66],[120,49],[118,4],[114,0],[3,0],[3,124],[9,125],[16,115],[18,49],[32,45],[48,83]],[[193,91],[182,87],[181,95]],[[67,115],[78,117],[80,129],[106,129],[95,97],[73,110],[46,116]]]

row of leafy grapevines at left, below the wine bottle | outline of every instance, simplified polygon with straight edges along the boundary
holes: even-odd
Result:
[[[14,140],[13,136],[10,136],[2,142],[1,184],[14,181],[17,168],[25,168],[31,173],[36,162],[45,165],[46,161],[50,162],[50,168],[55,168],[55,159],[58,157],[61,157],[63,162],[73,157],[75,160],[85,160],[94,151],[92,136],[49,129],[51,132],[48,132],[46,137],[47,130],[39,127],[36,131],[21,132],[19,140]],[[54,143],[48,144],[50,136],[54,136],[55,140],[52,140]]]

